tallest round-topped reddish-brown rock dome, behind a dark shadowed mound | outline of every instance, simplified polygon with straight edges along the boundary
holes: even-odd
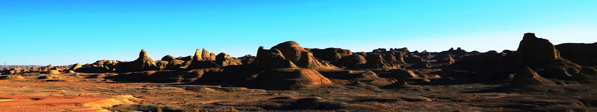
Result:
[[[303,69],[334,69],[336,67],[328,64],[327,61],[313,57],[313,53],[306,51],[297,42],[287,41],[272,46],[271,49],[278,49],[285,59],[293,62],[297,67]]]

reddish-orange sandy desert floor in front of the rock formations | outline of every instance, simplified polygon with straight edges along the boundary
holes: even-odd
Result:
[[[250,111],[243,110],[247,106],[234,103],[267,102],[267,99],[276,97],[318,97],[325,101],[346,102],[377,110],[299,108],[254,111],[597,111],[593,107],[597,104],[597,92],[590,91],[467,93],[503,86],[499,84],[418,85],[419,89],[379,89],[383,85],[364,83],[362,86],[347,86],[344,84],[352,81],[332,80],[335,84],[331,86],[301,91],[266,91],[210,85],[177,85],[179,83],[113,82],[101,77],[90,78],[93,74],[87,73],[54,74],[50,76],[52,79],[38,79],[48,74],[18,75],[25,79],[0,80],[0,111],[146,111],[125,109],[140,104],[179,108],[164,111],[229,111],[227,108],[232,107]],[[400,98],[404,101],[379,100],[380,98]],[[153,106],[147,110],[157,108],[161,107]]]

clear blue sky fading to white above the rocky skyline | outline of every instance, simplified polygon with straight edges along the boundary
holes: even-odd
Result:
[[[304,48],[515,50],[524,33],[597,42],[597,1],[13,1],[0,0],[0,64],[153,60],[206,48],[232,57]]]

